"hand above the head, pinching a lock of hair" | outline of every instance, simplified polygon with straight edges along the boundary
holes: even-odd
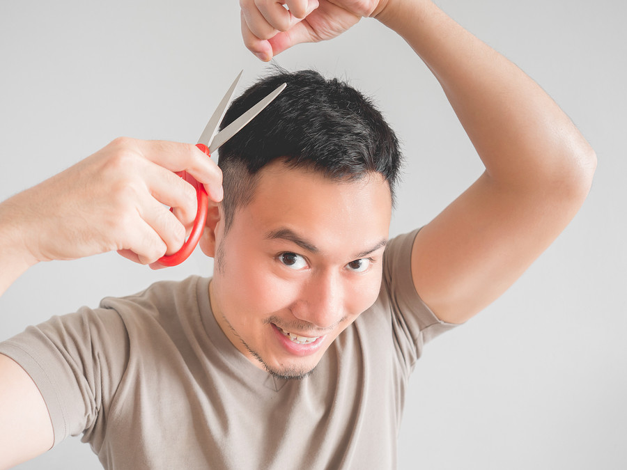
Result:
[[[301,42],[332,39],[376,17],[388,0],[240,0],[242,38],[262,61]],[[289,10],[286,10],[286,5]]]

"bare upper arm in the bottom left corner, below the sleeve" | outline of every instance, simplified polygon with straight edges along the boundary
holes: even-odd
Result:
[[[0,354],[0,469],[48,451],[53,442],[50,415],[35,382]]]

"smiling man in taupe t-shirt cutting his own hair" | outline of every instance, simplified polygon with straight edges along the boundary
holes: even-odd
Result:
[[[501,295],[582,204],[596,161],[585,139],[529,77],[431,1],[286,6],[242,1],[252,52],[269,60],[376,17],[438,78],[485,173],[419,232],[388,240],[398,163],[379,116],[346,107],[352,117],[332,129],[324,119],[299,127],[301,110],[289,107],[285,125],[337,130],[331,142],[382,132],[378,147],[348,155],[371,164],[328,171],[341,150],[265,152],[276,137],[255,139],[277,124],[271,106],[222,150],[224,203],[219,170],[194,147],[130,139],[9,199],[0,205],[2,290],[41,260],[116,249],[148,264],[176,251],[194,213],[194,192],[171,173],[180,170],[213,201],[201,247],[216,269],[211,281],[105,299],[3,343],[0,467],[79,433],[110,468],[393,467],[422,345]],[[314,88],[345,94],[336,117],[339,102],[364,105],[304,75],[291,75],[286,92],[315,79]],[[357,116],[362,128],[336,128]],[[160,203],[178,207],[178,218]]]

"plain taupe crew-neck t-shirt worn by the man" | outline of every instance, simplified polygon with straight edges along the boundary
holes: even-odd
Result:
[[[54,444],[83,434],[107,469],[391,469],[410,372],[453,326],[415,292],[414,237],[389,242],[378,300],[302,380],[245,359],[196,276],[55,316],[0,352],[39,387]]]

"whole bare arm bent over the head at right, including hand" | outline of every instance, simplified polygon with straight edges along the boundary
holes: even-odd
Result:
[[[287,17],[270,7],[251,13],[249,0],[240,3],[245,44],[265,60],[372,16],[401,35],[440,81],[486,166],[415,240],[415,286],[441,320],[464,322],[499,297],[587,196],[596,157],[571,120],[516,65],[431,1],[293,0]]]

